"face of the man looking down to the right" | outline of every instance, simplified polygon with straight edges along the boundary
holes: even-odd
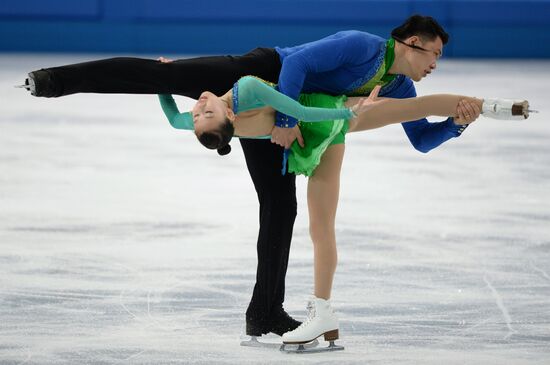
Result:
[[[406,43],[409,47],[409,64],[411,65],[410,78],[420,81],[432,73],[436,68],[437,60],[443,54],[443,42],[437,37],[433,41],[422,41],[419,37],[410,37]]]

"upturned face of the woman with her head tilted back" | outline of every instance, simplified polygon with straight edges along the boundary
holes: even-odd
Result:
[[[227,118],[227,104],[209,91],[199,97],[192,110],[195,134],[217,130]]]

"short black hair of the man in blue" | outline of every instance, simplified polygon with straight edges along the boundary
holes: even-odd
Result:
[[[434,41],[439,37],[443,44],[447,44],[449,41],[447,32],[445,32],[443,27],[431,16],[415,14],[391,31],[392,38],[400,41],[414,35],[429,41]]]

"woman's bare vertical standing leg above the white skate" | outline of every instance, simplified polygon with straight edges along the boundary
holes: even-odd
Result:
[[[309,234],[314,254],[314,294],[323,299],[330,298],[338,258],[334,224],[344,150],[344,144],[330,146],[307,185]]]

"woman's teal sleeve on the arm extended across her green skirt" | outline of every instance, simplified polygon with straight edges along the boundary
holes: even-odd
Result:
[[[254,96],[260,102],[269,105],[273,109],[283,114],[290,115],[298,120],[304,122],[318,122],[326,120],[353,118],[353,113],[350,109],[307,107],[301,105],[296,100],[278,92],[274,88],[270,87],[269,85],[265,84],[255,77],[245,76],[243,79],[241,79],[242,86],[239,87],[241,92],[243,91],[244,86],[244,88],[247,89],[246,92],[253,92]],[[242,83],[244,83],[244,85]]]

